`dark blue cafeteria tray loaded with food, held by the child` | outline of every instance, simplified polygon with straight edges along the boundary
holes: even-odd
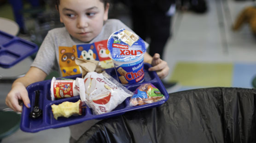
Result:
[[[169,94],[167,93],[166,89],[163,86],[163,83],[157,76],[157,73],[155,71],[148,71],[149,67],[151,67],[150,64],[144,63],[145,77],[143,82],[136,83],[133,85],[126,85],[125,87],[133,92],[137,87],[139,87],[143,83],[152,83],[161,91],[161,93],[163,93],[163,95],[165,96],[165,100],[161,100],[151,104],[130,106],[129,105],[130,97],[128,97],[126,100],[122,102],[122,104],[119,104],[115,110],[112,110],[111,112],[108,112],[108,113],[93,115],[92,109],[90,109],[87,106],[87,108],[82,108],[82,115],[72,115],[69,118],[58,117],[58,120],[55,120],[52,114],[52,108],[51,108],[52,104],[60,104],[64,101],[76,102],[80,99],[80,97],[75,96],[71,98],[57,99],[52,101],[51,92],[50,92],[51,80],[45,80],[41,82],[35,82],[33,84],[30,84],[27,87],[31,104],[35,102],[35,90],[41,91],[39,106],[43,110],[42,115],[35,119],[29,117],[29,113],[31,109],[33,109],[33,106],[28,109],[23,105],[20,128],[24,132],[39,132],[41,130],[46,130],[49,128],[59,128],[59,127],[78,124],[87,120],[104,119],[104,118],[108,118],[116,115],[122,115],[125,112],[132,111],[132,110],[145,110],[152,107],[157,107],[163,104],[169,98]],[[116,80],[118,80],[116,76],[116,71],[114,68],[106,69],[105,71],[108,74],[110,74],[112,77],[114,77]],[[76,77],[81,77],[81,74],[69,76],[65,78],[76,79]]]

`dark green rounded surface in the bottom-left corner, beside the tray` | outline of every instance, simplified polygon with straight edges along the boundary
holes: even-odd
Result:
[[[0,140],[16,132],[20,125],[21,115],[13,111],[0,111]]]

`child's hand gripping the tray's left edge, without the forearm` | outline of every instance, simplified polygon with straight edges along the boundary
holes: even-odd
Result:
[[[23,101],[23,104],[25,104],[27,108],[30,108],[28,91],[22,83],[17,82],[15,85],[12,85],[12,90],[6,97],[6,105],[14,111],[21,112],[22,105],[19,104],[21,101]]]

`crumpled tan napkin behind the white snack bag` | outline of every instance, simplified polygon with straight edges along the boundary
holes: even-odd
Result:
[[[82,78],[87,74],[87,72],[95,71],[101,73],[104,68],[99,66],[98,60],[85,60],[83,58],[75,59],[76,65],[80,66],[82,69]]]

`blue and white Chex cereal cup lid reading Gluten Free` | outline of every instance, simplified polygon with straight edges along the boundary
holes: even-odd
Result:
[[[146,52],[144,40],[126,29],[112,33],[107,46],[111,53],[111,59],[121,62],[136,60]]]

